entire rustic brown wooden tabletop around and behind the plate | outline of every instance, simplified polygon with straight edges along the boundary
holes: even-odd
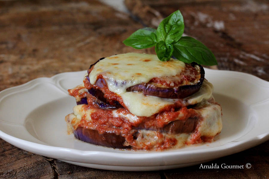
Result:
[[[100,57],[137,51],[121,43],[180,9],[185,33],[206,44],[218,69],[269,81],[269,3],[234,0],[126,0],[132,16],[98,1],[0,1],[0,91],[38,77],[85,70]],[[154,53],[154,49],[139,50]],[[0,139],[0,178],[269,178],[269,142],[211,163],[250,169],[153,172],[90,169],[45,158]]]

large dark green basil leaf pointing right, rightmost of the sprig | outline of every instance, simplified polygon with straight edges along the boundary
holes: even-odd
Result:
[[[185,63],[196,62],[201,65],[217,65],[214,54],[200,41],[192,37],[182,37],[173,44],[173,55]]]

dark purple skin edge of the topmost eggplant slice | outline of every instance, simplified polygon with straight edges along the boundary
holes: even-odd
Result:
[[[192,62],[191,65],[194,67],[198,64]],[[162,88],[155,87],[152,84],[142,83],[129,87],[126,89],[126,91],[140,91],[143,92],[144,95],[158,96],[160,98],[185,98],[199,91],[203,84],[204,68],[201,65],[198,66],[200,67],[201,77],[199,82],[194,85],[184,85],[178,88]]]

